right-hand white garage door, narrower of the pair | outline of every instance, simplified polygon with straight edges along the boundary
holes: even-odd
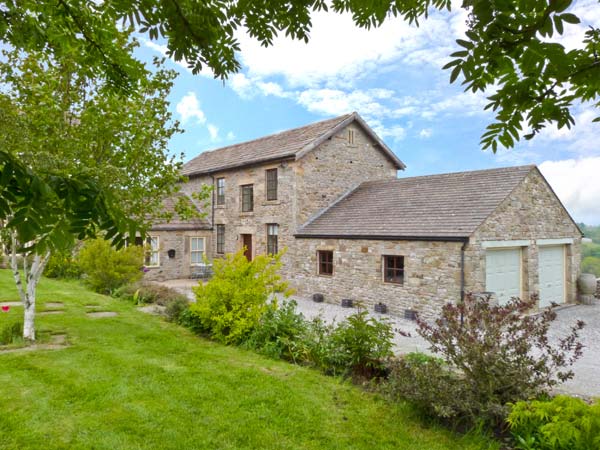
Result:
[[[565,302],[565,246],[540,247],[540,307]]]

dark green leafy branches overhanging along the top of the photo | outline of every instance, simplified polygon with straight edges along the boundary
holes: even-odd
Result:
[[[390,16],[419,24],[431,10],[450,10],[451,0],[289,0],[279,2],[209,0],[3,1],[0,40],[20,49],[79,55],[88,73],[131,89],[143,69],[122,51],[129,31],[163,37],[169,56],[187,61],[194,73],[210,68],[216,77],[239,69],[235,33],[244,27],[268,46],[279,32],[308,40],[312,11],[349,12],[370,28]],[[578,49],[557,40],[566,27],[580,23],[569,11],[571,0],[464,0],[469,12],[466,39],[446,65],[450,81],[459,77],[467,90],[488,92],[495,123],[482,136],[483,148],[512,147],[533,138],[548,124],[571,127],[576,102],[596,102],[600,94],[600,30],[591,27]],[[119,24],[129,28],[119,31]],[[523,124],[526,125],[524,130]]]

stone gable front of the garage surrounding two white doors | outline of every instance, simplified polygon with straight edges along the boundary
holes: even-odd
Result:
[[[539,292],[537,239],[572,238],[566,246],[567,301],[576,300],[581,233],[537,169],[506,198],[472,235],[465,252],[466,289],[485,291],[485,241],[526,240],[522,267],[524,298]]]

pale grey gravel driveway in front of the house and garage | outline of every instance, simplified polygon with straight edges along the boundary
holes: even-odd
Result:
[[[197,281],[173,280],[161,284],[176,288],[186,293],[191,299],[191,286]],[[312,300],[294,296],[298,303],[298,311],[307,319],[320,315],[327,322],[345,319],[356,312],[356,308],[342,308],[329,303],[315,303]],[[559,386],[556,391],[583,397],[600,397],[600,301],[594,305],[566,306],[557,311],[558,317],[550,329],[550,339],[557,340],[568,333],[569,328],[579,319],[586,323],[581,332],[584,345],[583,356],[575,363],[575,377]],[[396,354],[421,351],[427,352],[428,345],[416,333],[414,322],[389,314],[370,313],[378,319],[385,318],[394,328],[394,352]]]

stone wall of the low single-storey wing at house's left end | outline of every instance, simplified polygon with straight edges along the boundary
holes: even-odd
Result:
[[[210,250],[213,237],[210,230],[198,231],[151,231],[150,236],[159,238],[159,267],[151,267],[145,274],[147,280],[169,280],[190,278],[194,267],[191,264],[190,237],[203,237],[207,257],[212,258]],[[175,257],[169,258],[168,251],[175,250]]]

